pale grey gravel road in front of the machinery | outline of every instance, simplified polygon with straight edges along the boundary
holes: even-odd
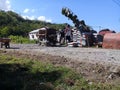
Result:
[[[29,53],[39,52],[70,58],[71,60],[100,63],[108,65],[120,65],[120,50],[82,47],[45,47],[37,44],[11,44],[11,49],[16,51],[27,51]]]

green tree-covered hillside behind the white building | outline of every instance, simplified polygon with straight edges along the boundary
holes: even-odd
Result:
[[[24,19],[13,11],[0,11],[0,37],[28,36],[28,32],[44,26],[62,29],[64,24],[48,23],[38,20]]]

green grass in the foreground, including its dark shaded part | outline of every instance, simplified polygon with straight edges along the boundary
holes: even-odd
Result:
[[[120,87],[89,84],[69,68],[0,54],[0,90],[120,90]]]

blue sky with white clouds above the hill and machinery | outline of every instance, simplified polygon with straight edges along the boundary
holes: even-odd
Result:
[[[108,28],[120,32],[120,0],[0,0],[0,9],[14,11],[25,19],[74,26],[61,14],[63,7],[96,31]]]

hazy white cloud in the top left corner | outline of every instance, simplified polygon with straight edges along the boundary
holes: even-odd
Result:
[[[9,11],[11,9],[10,0],[0,0],[0,9]]]

